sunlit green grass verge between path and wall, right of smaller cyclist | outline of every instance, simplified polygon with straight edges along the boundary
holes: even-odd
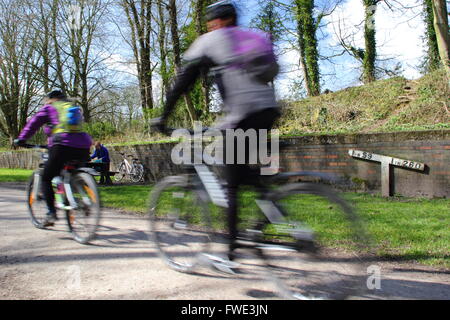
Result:
[[[146,213],[149,186],[115,186],[100,188],[104,206]],[[346,193],[367,221],[376,244],[377,256],[398,262],[416,262],[436,268],[450,269],[450,201],[448,199],[385,199],[379,196]],[[254,194],[241,194],[242,220],[255,217]],[[295,219],[306,222],[330,248],[348,249],[346,228],[337,209],[314,196],[295,196],[287,201]],[[289,209],[288,208],[288,209]],[[303,209],[305,208],[305,209]],[[212,208],[218,217],[219,209]],[[218,221],[218,222],[217,222]],[[216,228],[225,228],[217,220]],[[222,222],[221,222],[222,221]]]

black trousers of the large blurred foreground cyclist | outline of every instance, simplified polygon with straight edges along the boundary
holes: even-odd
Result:
[[[280,112],[276,108],[265,109],[259,112],[250,114],[248,117],[243,119],[236,126],[235,129],[242,129],[244,131],[249,129],[255,129],[257,131],[257,139],[259,146],[259,132],[260,129],[270,130],[275,121],[279,118]],[[250,150],[248,141],[245,144],[246,153],[246,163],[247,164],[237,164],[237,140],[235,139],[234,155],[235,164],[227,164],[225,166],[225,176],[227,181],[227,193],[228,193],[228,229],[230,237],[230,249],[233,249],[234,241],[237,236],[237,224],[238,224],[238,190],[243,184],[252,184],[256,186],[257,179],[259,176],[259,168],[252,169],[248,165],[250,152],[258,152],[258,150]]]

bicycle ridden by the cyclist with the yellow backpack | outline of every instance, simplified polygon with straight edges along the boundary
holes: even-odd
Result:
[[[45,150],[41,152],[39,169],[33,172],[27,185],[27,206],[31,222],[36,228],[45,229],[47,206],[41,190],[41,179],[48,160],[48,147],[28,144],[20,147]],[[81,244],[88,244],[95,238],[100,223],[100,197],[93,178],[95,175],[98,173],[94,169],[84,168],[80,162],[72,161],[65,164],[60,176],[55,178],[61,179],[56,187],[55,206],[65,211],[69,232]]]

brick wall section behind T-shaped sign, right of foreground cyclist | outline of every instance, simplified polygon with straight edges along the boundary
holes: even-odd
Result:
[[[283,171],[319,171],[344,178],[349,189],[381,191],[381,165],[352,158],[350,149],[425,163],[424,173],[394,167],[394,192],[450,197],[450,131],[293,137],[284,140]]]

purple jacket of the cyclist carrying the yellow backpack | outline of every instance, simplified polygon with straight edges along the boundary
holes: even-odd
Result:
[[[20,140],[30,139],[43,125],[59,124],[58,111],[50,104],[43,106],[33,118],[28,121],[25,128],[19,135]],[[92,145],[92,138],[85,132],[80,133],[61,133],[58,135],[58,142],[53,142],[52,129],[50,126],[44,127],[44,133],[48,137],[48,146],[60,144],[67,147],[78,149],[90,149]]]

